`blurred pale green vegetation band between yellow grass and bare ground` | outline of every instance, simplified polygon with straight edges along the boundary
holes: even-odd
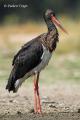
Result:
[[[12,58],[0,55],[0,84],[6,84],[9,77]],[[33,78],[29,78],[27,83],[31,83]],[[80,82],[80,55],[53,54],[49,65],[41,72],[40,83],[53,84],[56,81]]]

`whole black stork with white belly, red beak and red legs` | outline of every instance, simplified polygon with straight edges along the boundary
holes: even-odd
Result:
[[[41,113],[41,103],[39,96],[39,75],[42,69],[48,64],[52,52],[58,42],[58,31],[55,25],[67,31],[61,26],[55,13],[48,9],[44,13],[44,20],[48,27],[48,32],[32,39],[24,44],[14,56],[12,71],[8,79],[6,89],[17,92],[23,81],[34,75],[34,111]]]

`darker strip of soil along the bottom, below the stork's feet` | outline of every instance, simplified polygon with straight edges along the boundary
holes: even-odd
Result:
[[[45,113],[42,115],[21,114],[21,115],[5,115],[0,120],[80,120],[79,113]]]

